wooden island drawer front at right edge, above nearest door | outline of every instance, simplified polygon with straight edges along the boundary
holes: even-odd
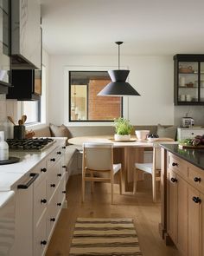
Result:
[[[190,165],[188,167],[188,181],[204,193],[204,170]]]

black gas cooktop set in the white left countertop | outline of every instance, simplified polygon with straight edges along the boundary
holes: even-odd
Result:
[[[54,139],[51,138],[35,138],[35,139],[8,139],[10,150],[30,150],[41,151],[54,144]]]

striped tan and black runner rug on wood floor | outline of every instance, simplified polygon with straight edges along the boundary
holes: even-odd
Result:
[[[70,256],[143,255],[132,219],[78,218]]]

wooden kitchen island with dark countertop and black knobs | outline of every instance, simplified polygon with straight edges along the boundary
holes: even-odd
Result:
[[[182,255],[204,255],[204,150],[162,144],[160,233]]]

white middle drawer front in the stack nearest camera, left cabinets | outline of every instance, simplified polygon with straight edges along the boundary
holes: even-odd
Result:
[[[41,214],[44,213],[48,205],[47,193],[46,193],[46,179],[41,179],[38,185],[35,186],[34,193],[34,225],[41,218]]]

